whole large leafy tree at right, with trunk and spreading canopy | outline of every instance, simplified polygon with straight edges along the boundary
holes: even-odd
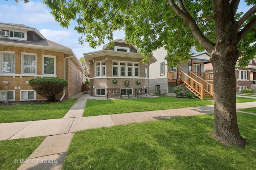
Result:
[[[96,47],[125,30],[126,42],[145,56],[164,46],[169,66],[190,59],[191,46],[211,54],[214,71],[214,130],[224,144],[244,147],[236,117],[235,66],[245,66],[255,52],[256,6],[237,12],[240,0],[44,0],[61,26],[83,34],[79,42]],[[172,53],[175,51],[174,53]]]

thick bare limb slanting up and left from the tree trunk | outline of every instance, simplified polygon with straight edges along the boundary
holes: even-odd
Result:
[[[208,40],[208,38],[206,38],[206,36],[204,36],[204,34],[201,32],[201,30],[197,26],[197,24],[194,21],[194,19],[192,18],[192,16],[190,16],[190,14],[184,8],[184,5],[182,4],[182,0],[178,0],[179,6],[183,6],[182,10],[174,3],[174,0],[168,0],[168,1],[170,3],[170,6],[172,7],[172,9],[174,10],[174,12],[176,12],[176,14],[178,14],[178,16],[180,16],[180,18],[182,18],[182,20],[184,20],[186,22],[186,24],[188,24],[192,35],[194,36],[194,38],[196,38],[198,43],[204,49],[206,49],[206,51],[211,53],[212,48],[215,44],[213,42],[211,42],[210,40]]]

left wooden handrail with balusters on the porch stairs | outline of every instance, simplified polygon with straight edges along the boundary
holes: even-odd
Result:
[[[203,99],[203,84],[199,83],[186,73],[180,70],[180,79],[183,81],[185,85],[188,85],[192,90],[190,90],[192,93],[194,93],[197,97],[199,97],[201,100]]]

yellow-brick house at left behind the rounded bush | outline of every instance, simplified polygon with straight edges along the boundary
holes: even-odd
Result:
[[[81,92],[84,68],[72,49],[52,42],[35,28],[0,23],[0,101],[41,100],[28,85],[33,78],[66,79],[58,99]]]

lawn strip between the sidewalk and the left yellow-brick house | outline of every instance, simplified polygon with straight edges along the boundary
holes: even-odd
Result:
[[[0,106],[0,123],[38,121],[64,117],[77,99],[50,104]]]

